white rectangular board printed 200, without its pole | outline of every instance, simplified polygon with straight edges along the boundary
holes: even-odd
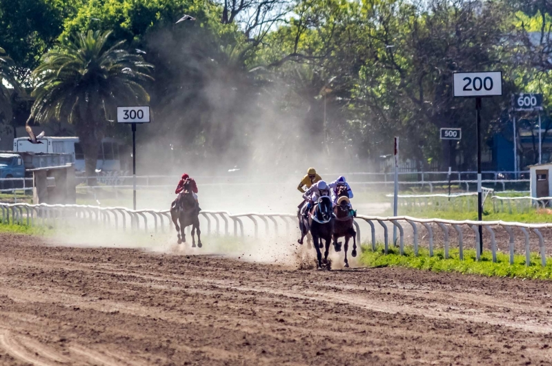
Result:
[[[502,71],[453,73],[455,97],[491,97],[502,95]]]

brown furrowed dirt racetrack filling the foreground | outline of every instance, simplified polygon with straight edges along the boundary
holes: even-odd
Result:
[[[552,282],[0,235],[0,365],[550,365]]]

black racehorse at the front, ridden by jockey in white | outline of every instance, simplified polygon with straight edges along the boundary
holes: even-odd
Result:
[[[327,195],[323,195],[315,203],[313,211],[311,211],[308,219],[308,224],[311,227],[311,235],[313,235],[314,247],[317,256],[317,268],[322,268],[322,241],[326,241],[326,250],[324,251],[324,264],[328,266],[328,251],[330,250],[330,242],[332,240],[334,214],[332,210],[332,200]]]

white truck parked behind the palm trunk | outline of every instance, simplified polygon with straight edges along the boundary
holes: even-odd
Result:
[[[84,153],[79,144],[79,137],[43,137],[42,144],[31,144],[27,137],[13,140],[13,151],[18,153],[66,153],[72,154],[75,160],[75,170],[84,171]],[[116,139],[106,137],[101,140],[96,168],[101,171],[121,171],[119,143]],[[122,149],[121,149],[122,150]]]

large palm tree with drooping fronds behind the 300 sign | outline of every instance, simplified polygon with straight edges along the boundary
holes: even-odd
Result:
[[[111,32],[77,32],[43,56],[32,76],[37,88],[30,118],[39,123],[67,119],[75,124],[88,177],[93,176],[101,139],[117,105],[149,102],[144,84],[153,67],[140,55],[108,45]]]

